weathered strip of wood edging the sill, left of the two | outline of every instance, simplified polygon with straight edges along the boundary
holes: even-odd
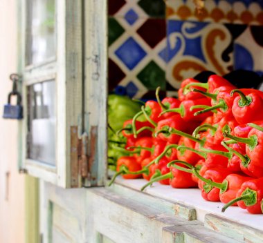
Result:
[[[118,182],[109,187],[109,190],[125,197],[130,197],[141,204],[152,205],[154,208],[163,211],[163,213],[177,215],[183,217],[185,220],[197,220],[196,210],[191,206],[170,200],[163,200],[161,197],[153,197],[152,195],[141,193],[127,186],[118,184]]]

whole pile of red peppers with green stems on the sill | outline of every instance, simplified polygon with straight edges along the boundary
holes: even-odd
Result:
[[[222,211],[263,213],[263,93],[218,75],[185,79],[178,99],[158,92],[118,131],[127,143],[116,150],[129,156],[118,159],[110,185],[123,175],[147,179],[142,191],[154,182],[199,187],[205,200],[225,204]]]

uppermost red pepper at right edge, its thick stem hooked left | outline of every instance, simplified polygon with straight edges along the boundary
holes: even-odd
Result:
[[[232,113],[239,124],[263,119],[263,113],[259,112],[263,107],[260,95],[253,91],[245,95],[241,90],[232,90],[230,95],[233,96],[234,93],[239,96],[234,99]]]

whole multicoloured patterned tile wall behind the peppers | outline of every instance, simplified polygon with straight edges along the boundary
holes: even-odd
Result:
[[[166,3],[166,6],[165,6]],[[263,0],[109,0],[109,91],[176,95],[202,70],[263,74]]]

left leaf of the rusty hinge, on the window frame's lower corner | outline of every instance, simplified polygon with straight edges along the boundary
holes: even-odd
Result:
[[[71,126],[71,187],[81,187],[88,177],[88,135],[78,135],[78,126]]]

